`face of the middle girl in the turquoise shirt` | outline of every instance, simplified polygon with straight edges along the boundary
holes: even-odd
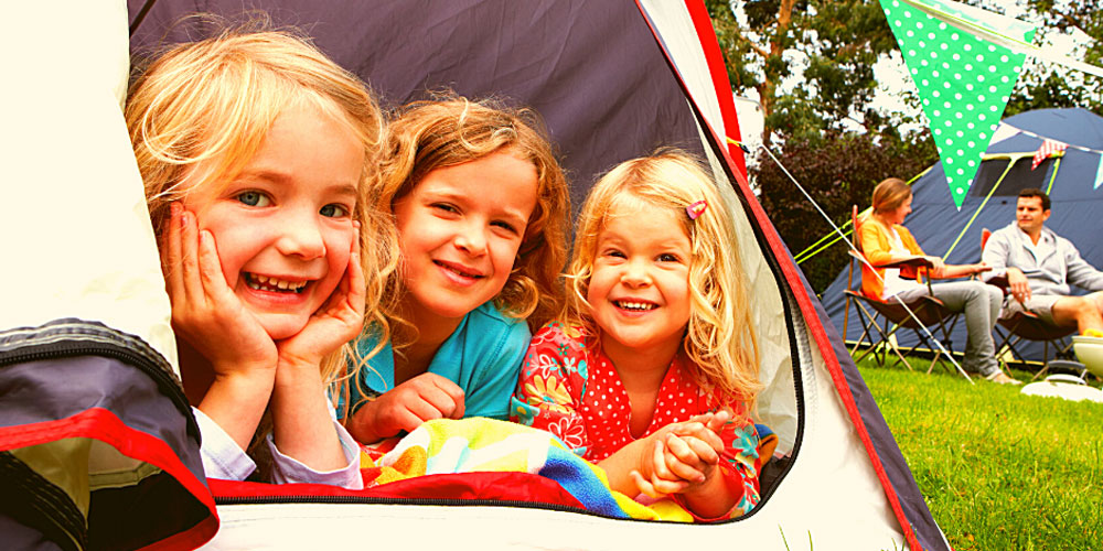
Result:
[[[405,300],[419,325],[496,296],[536,207],[536,168],[508,150],[426,174],[395,202]]]

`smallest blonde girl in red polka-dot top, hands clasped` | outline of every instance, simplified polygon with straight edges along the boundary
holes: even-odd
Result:
[[[758,346],[731,217],[697,162],[621,163],[579,219],[568,306],[532,341],[511,411],[630,496],[698,519],[758,501]]]

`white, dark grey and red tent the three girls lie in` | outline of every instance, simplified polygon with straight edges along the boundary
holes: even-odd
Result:
[[[97,128],[101,132],[110,129],[113,137],[122,131],[117,112],[120,74],[116,64],[120,44],[113,34],[119,26],[119,8],[115,7],[113,12],[103,4],[92,6],[86,10],[52,12],[49,18],[55,29],[84,29],[83,34],[74,33],[74,42],[65,43],[78,48],[81,57],[69,61],[47,57],[45,62],[39,60],[19,68],[36,84],[50,76],[51,71],[43,66],[72,67],[81,76],[97,75],[83,80],[82,90],[88,90],[87,104],[94,104],[100,118],[88,121],[90,128],[79,129],[84,133],[76,138],[79,143],[88,143],[88,148],[95,145],[93,156],[99,162],[89,160],[79,164],[82,177],[64,171],[43,175],[32,171],[42,165],[40,155],[36,163],[29,161],[25,176],[49,179],[35,186],[38,195],[0,202],[4,205],[0,212],[3,235],[19,235],[30,241],[25,258],[32,263],[40,259],[52,262],[45,266],[64,274],[68,288],[85,290],[78,299],[87,300],[71,301],[67,307],[64,301],[57,301],[56,307],[43,310],[35,307],[36,295],[28,294],[22,311],[6,315],[2,327],[26,327],[20,331],[38,336],[49,335],[50,326],[45,324],[57,317],[100,321],[106,331],[133,335],[136,347],[140,342],[149,343],[151,346],[147,348],[156,350],[147,350],[151,356],[161,358],[162,365],[173,366],[172,336],[165,331],[168,301],[160,287],[149,222],[143,218],[140,205],[140,183],[132,159],[127,159],[129,148],[117,140],[92,138]],[[315,549],[361,542],[425,548],[443,548],[456,542],[484,548],[538,544],[548,549],[715,547],[725,542],[728,547],[759,549],[949,549],[872,397],[754,199],[741,153],[725,145],[725,137],[739,138],[739,127],[730,85],[703,2],[286,0],[253,2],[253,6],[271,13],[277,23],[295,23],[307,30],[324,51],[358,73],[390,102],[418,97],[427,88],[450,86],[470,96],[494,94],[536,107],[559,144],[576,204],[597,173],[621,160],[646,154],[657,145],[681,145],[706,158],[726,195],[726,206],[737,215],[741,253],[752,285],[753,318],[763,353],[761,378],[767,390],[760,399],[758,418],[779,434],[780,445],[773,466],[763,476],[763,500],[752,512],[716,525],[679,525],[613,519],[577,507],[507,501],[484,494],[476,494],[475,499],[439,498],[431,494],[431,487],[430,499],[373,489],[349,495],[313,485],[265,489],[248,486],[242,490],[233,483],[207,482],[204,487],[202,474],[196,469],[173,469],[174,461],[192,465],[189,457],[194,457],[197,437],[190,433],[190,439],[164,435],[161,440],[169,443],[164,449],[170,452],[167,457],[149,460],[153,465],[149,471],[171,475],[175,495],[150,494],[142,503],[129,499],[93,503],[93,512],[87,517],[89,531],[126,538],[122,543],[99,547],[189,548],[210,538],[217,523],[218,532],[208,542],[213,549]],[[200,8],[234,14],[240,3],[132,0],[128,13],[131,46],[141,51],[164,35],[170,40],[179,37],[180,28],[171,23]],[[25,17],[20,19],[34,21],[45,17],[42,9],[32,10],[28,8]],[[60,34],[58,41],[62,36],[66,34]],[[8,51],[15,51],[14,45]],[[113,67],[113,73],[100,74]],[[64,74],[50,82],[57,83],[57,90],[67,90],[60,80],[72,78],[72,74]],[[46,97],[57,99],[56,95]],[[25,99],[28,102],[19,106],[24,111],[43,110],[26,108],[25,105],[42,104],[34,104],[30,97]],[[4,101],[4,106],[11,107],[12,102]],[[78,110],[90,108],[84,104],[74,106]],[[31,117],[19,120],[33,129]],[[81,117],[72,111],[47,122],[60,126],[66,120],[83,126]],[[13,128],[19,130],[8,133],[23,131],[23,127]],[[43,143],[36,148],[45,149]],[[31,149],[35,148],[24,148],[28,159],[32,159]],[[88,185],[89,179],[95,186]],[[56,202],[67,196],[68,187],[85,192],[110,187],[119,192],[103,197],[110,202],[103,206],[97,202],[98,195],[108,194],[81,194],[77,206],[69,208],[73,212],[65,212],[72,219],[51,216],[49,225],[32,226],[35,231],[17,233],[25,224],[22,220],[43,218],[35,217],[36,209],[26,205],[49,204],[47,198]],[[17,204],[21,206],[11,206]],[[101,218],[114,223],[95,223]],[[69,223],[76,226],[65,226]],[[58,226],[73,229],[58,231]],[[119,227],[129,231],[113,233]],[[38,233],[58,237],[40,245]],[[65,238],[73,235],[79,235],[79,239],[66,242]],[[92,247],[89,244],[104,242],[111,245],[100,245],[92,252],[79,250]],[[77,260],[95,257],[104,249],[114,251],[114,256],[109,262],[71,262],[68,255],[74,248],[77,250],[72,255]],[[124,261],[138,266],[118,270],[117,266],[129,264],[113,264]],[[11,280],[9,288],[26,285],[25,273],[4,273],[4,277]],[[57,281],[44,281],[30,291],[51,296],[52,285],[56,284]],[[110,292],[104,296],[93,292],[105,289]],[[131,359],[124,356],[115,361],[129,366]],[[0,374],[12,371],[6,367]],[[169,382],[163,386],[167,388],[162,393],[168,398],[162,397],[161,401],[171,402],[179,389],[173,390]],[[126,382],[109,390],[127,403],[135,398]],[[50,389],[42,388],[41,392],[49,396]],[[0,450],[18,451],[21,442],[17,436],[28,425],[8,413],[10,401],[10,393],[0,391],[0,419],[3,419]],[[178,413],[182,413],[176,415],[179,419],[169,415],[167,422],[191,423],[186,409],[178,409]],[[57,424],[64,426],[69,419],[62,415]],[[107,443],[125,457],[142,458],[128,447],[127,439],[111,440],[105,432],[93,431],[86,437]],[[60,440],[64,435],[46,431],[42,436],[43,441],[51,437]],[[54,465],[69,468],[83,467],[83,461],[82,456],[66,454],[52,458]],[[3,476],[6,484],[11,484],[12,477]],[[449,482],[462,480],[449,478]],[[216,507],[211,494],[204,491],[206,488],[213,490]],[[439,488],[441,495],[448,491],[443,486]],[[77,499],[79,496],[71,500]],[[170,525],[164,520],[175,517],[168,512],[180,511],[184,504],[191,505],[193,515],[170,527],[176,530],[174,534],[154,529]],[[217,519],[213,515],[215,509]],[[128,521],[96,525],[108,511]],[[45,520],[30,523],[17,515],[21,512],[18,506],[9,506],[2,512],[8,516],[0,517],[3,527],[0,530],[30,534],[26,537],[39,533],[40,541],[47,543],[58,541],[49,531],[57,523],[51,515],[40,515]]]

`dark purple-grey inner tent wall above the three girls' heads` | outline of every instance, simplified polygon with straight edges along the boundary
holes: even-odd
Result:
[[[129,1],[131,26],[147,3]],[[384,105],[451,88],[535,108],[560,148],[576,209],[596,175],[622,160],[660,145],[702,152],[681,87],[670,78],[649,77],[670,72],[662,50],[639,10],[623,8],[617,2],[486,0],[265,2],[277,25],[307,31],[322,51],[367,82]],[[195,12],[243,15],[239,0],[159,0],[133,29],[132,48],[141,52],[203,32],[194,20],[183,19]],[[490,33],[502,34],[488,40]]]

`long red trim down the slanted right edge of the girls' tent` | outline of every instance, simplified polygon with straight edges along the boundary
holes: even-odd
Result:
[[[695,0],[686,0],[686,4],[688,6],[694,1]],[[636,2],[636,7],[640,8],[641,13],[646,13],[639,2]],[[707,17],[707,12],[705,15]],[[671,62],[671,66],[676,66],[674,65],[673,60],[670,58],[670,52],[662,47],[662,40],[658,37],[657,30],[651,24],[651,21],[647,20],[646,17],[644,17],[644,20],[647,21],[647,25],[651,28],[652,34],[655,35],[655,40],[658,43],[660,48],[663,51],[663,55],[665,55]],[[711,23],[709,23],[709,25],[711,25]],[[711,26],[709,26],[709,29],[711,29]],[[699,34],[700,32],[698,31],[698,35]],[[719,48],[718,45],[717,48]],[[717,75],[715,72],[713,74],[715,79]],[[724,75],[724,78],[727,79],[726,71]],[[685,80],[682,79],[682,75],[679,75],[677,71],[674,71],[674,76],[682,82],[682,86],[685,88]],[[728,96],[730,97],[730,94],[728,94]],[[697,104],[697,99],[689,95],[689,100],[694,104],[697,111],[700,112],[700,106]],[[732,105],[733,102],[735,101],[732,100]],[[717,141],[717,143],[727,144],[724,137],[717,136],[716,131],[708,125],[708,121],[705,121],[705,126],[707,131],[713,134],[713,138]],[[728,150],[729,148],[719,148],[725,162],[728,163],[729,168],[739,166],[739,164],[731,158]],[[793,293],[796,298],[797,306],[800,307],[801,314],[808,326],[808,332],[816,342],[816,346],[820,347],[820,355],[823,357],[827,371],[831,374],[832,382],[835,383],[835,390],[839,393],[839,398],[843,399],[846,412],[850,417],[850,422],[858,432],[858,437],[861,440],[863,446],[866,449],[866,455],[869,456],[869,461],[872,463],[874,472],[877,474],[877,479],[881,483],[881,488],[885,490],[885,496],[888,498],[889,507],[892,508],[892,512],[896,515],[897,521],[900,523],[900,529],[903,532],[904,539],[908,541],[910,549],[913,551],[922,551],[923,548],[919,543],[919,538],[915,536],[915,531],[912,530],[911,522],[908,520],[908,517],[903,512],[903,508],[900,506],[900,497],[897,495],[896,489],[892,488],[892,483],[889,480],[888,473],[885,471],[885,465],[881,464],[881,460],[877,455],[877,449],[874,447],[874,442],[869,436],[869,431],[866,429],[866,424],[861,421],[861,413],[858,411],[858,406],[854,401],[854,395],[850,393],[850,387],[847,385],[846,377],[843,375],[843,368],[838,364],[838,358],[835,357],[834,348],[831,345],[831,341],[827,338],[827,332],[824,331],[823,325],[820,323],[820,316],[816,314],[816,310],[812,304],[811,298],[808,298],[807,293],[803,292],[804,284],[801,282],[796,263],[794,263],[792,258],[789,256],[784,241],[782,241],[778,230],[773,227],[773,224],[770,222],[770,217],[765,214],[762,205],[760,205],[758,199],[754,198],[754,193],[747,183],[746,174],[739,170],[735,170],[732,172],[736,175],[736,182],[739,185],[743,197],[747,199],[751,214],[758,222],[759,228],[762,229],[762,235],[765,237],[767,245],[769,245],[774,258],[778,259],[778,264],[781,267],[785,282],[789,284],[790,289],[799,289],[802,291]]]

